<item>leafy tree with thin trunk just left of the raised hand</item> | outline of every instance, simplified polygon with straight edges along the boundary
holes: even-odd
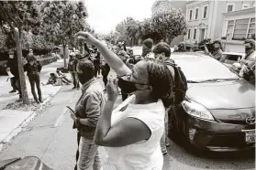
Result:
[[[46,1],[41,5],[42,34],[48,42],[61,44],[64,67],[67,67],[67,45],[75,45],[74,34],[88,30],[87,10],[84,3],[72,1]]]

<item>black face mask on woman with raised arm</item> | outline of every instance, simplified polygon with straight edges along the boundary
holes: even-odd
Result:
[[[118,79],[118,87],[124,93],[127,93],[127,94],[139,90],[139,89],[136,88],[136,86],[135,86],[136,84],[139,84],[139,83],[131,82],[131,81],[128,81],[128,80],[123,80],[122,78]],[[146,85],[146,84],[143,84],[143,85]]]

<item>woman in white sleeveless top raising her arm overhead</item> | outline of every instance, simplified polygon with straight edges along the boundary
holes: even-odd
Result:
[[[154,58],[140,60],[129,69],[91,34],[79,32],[75,37],[95,45],[119,75],[118,80],[109,80],[106,85],[108,99],[97,124],[95,144],[106,147],[110,164],[117,170],[162,169],[160,141],[164,131],[164,106],[167,105],[161,99],[169,96],[173,87],[169,69]],[[132,95],[127,99],[128,105],[113,112],[118,87]]]

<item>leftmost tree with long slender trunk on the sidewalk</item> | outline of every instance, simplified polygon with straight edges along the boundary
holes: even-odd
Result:
[[[28,104],[28,91],[24,76],[21,40],[25,26],[39,26],[39,11],[34,1],[1,1],[0,25],[10,28],[15,37],[17,49],[18,75],[23,103]]]

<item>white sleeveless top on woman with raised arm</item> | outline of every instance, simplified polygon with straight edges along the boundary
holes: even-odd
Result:
[[[134,101],[129,97],[124,103]],[[120,107],[119,107],[120,109]],[[125,119],[136,118],[144,122],[151,131],[150,139],[124,147],[106,147],[110,165],[117,170],[161,170],[163,156],[161,154],[161,136],[164,131],[165,109],[159,100],[150,104],[128,104],[124,112],[112,113],[111,125]]]

